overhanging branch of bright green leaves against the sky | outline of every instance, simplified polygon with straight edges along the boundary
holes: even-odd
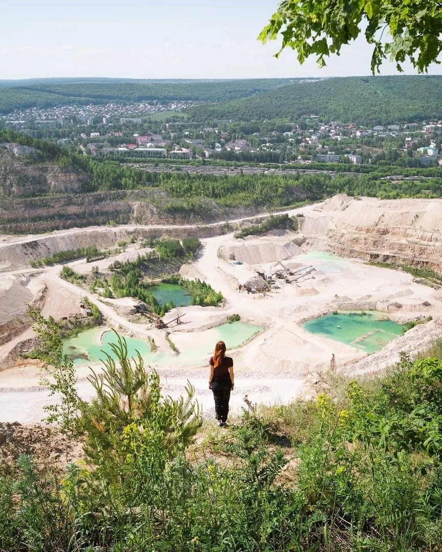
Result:
[[[420,73],[430,63],[440,63],[442,51],[442,3],[436,0],[283,0],[261,31],[259,39],[282,38],[278,56],[286,47],[296,50],[303,63],[316,55],[319,66],[330,54],[339,55],[361,32],[372,44],[371,71],[379,71],[385,59],[402,63],[409,59]]]

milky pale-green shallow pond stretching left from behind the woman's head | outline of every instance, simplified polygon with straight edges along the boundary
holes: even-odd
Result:
[[[194,347],[195,333],[176,332],[170,338],[178,347],[180,354],[176,356],[171,351],[155,352],[150,351],[149,343],[144,339],[126,337],[129,356],[136,355],[136,351],[146,363],[151,365],[164,364],[201,364],[205,362],[215,347],[217,341],[224,341],[228,349],[234,349],[248,341],[256,333],[264,328],[244,322],[233,322],[223,324],[210,330],[198,332],[198,348]],[[117,337],[112,331],[104,331],[103,328],[92,328],[78,334],[77,337],[66,339],[64,351],[73,358],[75,365],[99,362],[104,353],[113,355],[111,343],[117,342]]]

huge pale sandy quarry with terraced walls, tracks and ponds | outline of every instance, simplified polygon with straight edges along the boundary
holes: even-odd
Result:
[[[145,365],[157,370],[165,394],[180,396],[190,381],[205,416],[213,413],[207,364],[218,339],[234,358],[231,406],[238,409],[245,396],[255,403],[309,396],[330,369],[348,376],[382,371],[400,352],[415,355],[442,336],[442,200],[337,195],[284,213],[297,220],[297,230],[244,238],[235,232],[263,215],[228,224],[128,224],[0,236],[0,421],[38,422],[50,400],[39,386],[44,363],[24,354],[35,347],[28,305],[55,320],[86,317],[85,301],[101,312],[96,327],[65,342],[82,397],[91,396],[87,375],[90,367],[99,370],[113,329],[128,339],[131,354],[139,351]],[[146,316],[137,298],[106,297],[101,288],[82,284],[90,282],[92,267],[111,279],[116,261],[152,254],[146,240],[183,237],[198,237],[201,246],[176,265],[177,272],[221,293],[218,306],[190,304],[177,284],[159,283],[158,293],[182,306]],[[92,262],[38,263],[88,247],[107,253]],[[64,266],[79,279],[62,278]]]

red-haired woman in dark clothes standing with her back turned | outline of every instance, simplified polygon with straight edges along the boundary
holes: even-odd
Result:
[[[213,357],[209,360],[211,372],[209,389],[213,391],[215,400],[215,417],[218,427],[225,426],[229,415],[230,391],[233,391],[234,373],[233,359],[225,356],[225,343],[218,341]]]

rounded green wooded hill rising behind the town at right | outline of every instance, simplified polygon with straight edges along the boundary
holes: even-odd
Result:
[[[442,119],[442,76],[345,77],[303,82],[189,112],[193,119],[324,120],[356,124]]]

